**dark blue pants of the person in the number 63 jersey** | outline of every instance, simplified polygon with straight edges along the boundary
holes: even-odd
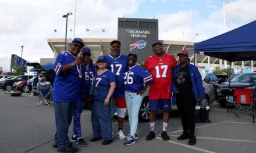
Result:
[[[73,113],[73,135],[76,135],[77,138],[82,137],[81,134],[81,112],[83,111],[83,104],[86,99],[79,99],[79,101],[74,105]]]

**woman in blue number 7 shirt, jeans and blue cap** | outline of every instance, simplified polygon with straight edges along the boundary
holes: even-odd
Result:
[[[105,56],[99,56],[97,60],[98,70],[92,82],[91,93],[93,103],[91,104],[91,124],[93,126],[93,139],[98,141],[104,139],[103,145],[112,143],[112,94],[115,90],[115,75],[106,68]]]

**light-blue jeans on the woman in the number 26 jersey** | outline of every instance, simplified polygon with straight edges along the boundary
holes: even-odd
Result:
[[[134,136],[138,126],[138,112],[143,100],[144,94],[140,95],[133,92],[125,91],[125,101],[129,116],[130,134]]]

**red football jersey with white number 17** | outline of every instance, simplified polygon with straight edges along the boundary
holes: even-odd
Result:
[[[177,61],[171,54],[163,53],[162,59],[153,54],[144,63],[154,81],[150,83],[149,99],[170,99],[172,96],[172,69]]]

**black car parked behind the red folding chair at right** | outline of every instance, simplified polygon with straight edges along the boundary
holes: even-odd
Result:
[[[226,100],[230,100],[234,97],[234,88],[256,88],[256,73],[244,73],[237,74],[229,82],[223,82],[217,89],[215,94],[215,101],[218,102],[222,107],[226,106]],[[230,97],[228,97],[230,96]]]

